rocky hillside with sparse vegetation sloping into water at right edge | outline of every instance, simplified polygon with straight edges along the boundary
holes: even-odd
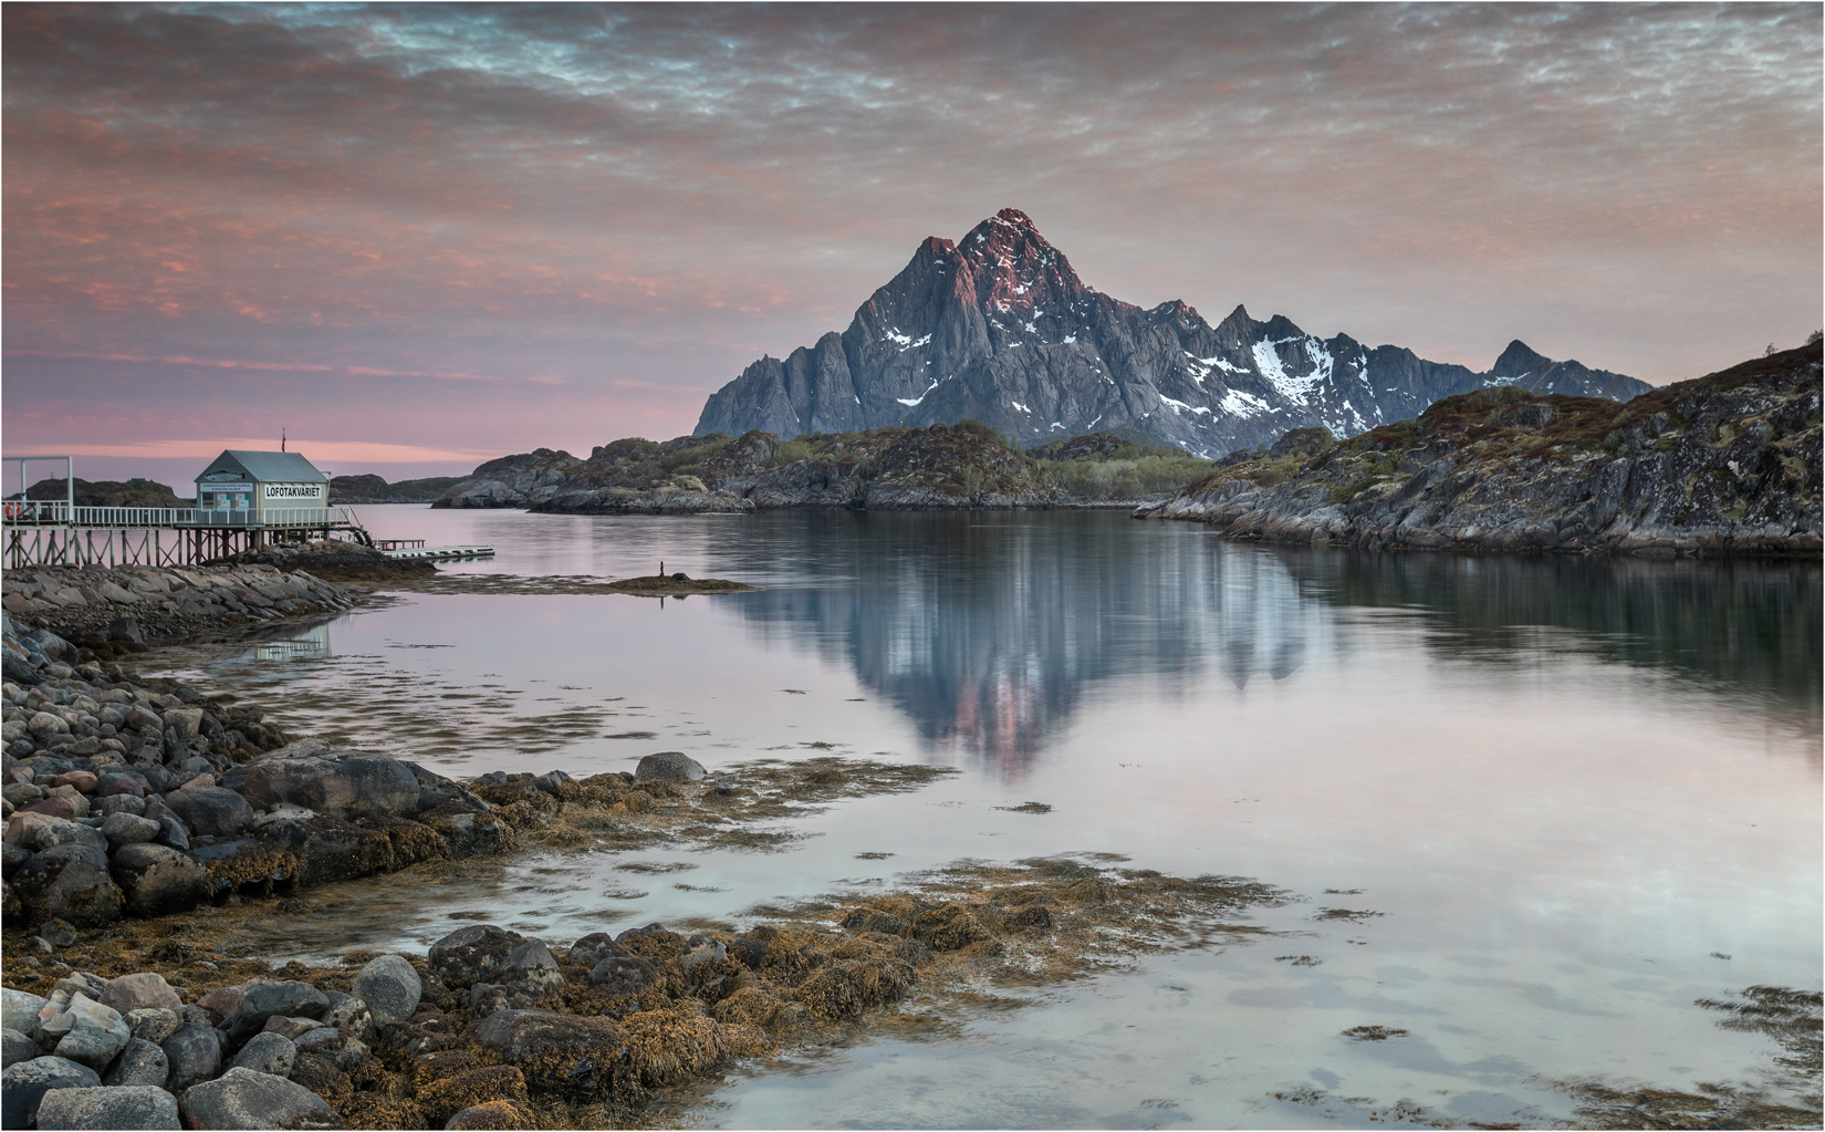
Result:
[[[1624,405],[1484,389],[1225,462],[1137,517],[1268,542],[1818,555],[1820,371],[1812,343]]]

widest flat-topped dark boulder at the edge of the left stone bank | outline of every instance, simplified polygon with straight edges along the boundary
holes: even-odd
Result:
[[[416,814],[420,783],[396,758],[305,741],[248,765],[241,789],[261,809],[296,805],[356,820]]]

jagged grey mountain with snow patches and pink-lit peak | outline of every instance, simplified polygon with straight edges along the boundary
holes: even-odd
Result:
[[[1026,214],[1004,208],[960,243],[925,239],[841,334],[750,365],[710,396],[695,435],[975,418],[1022,444],[1133,429],[1217,456],[1296,427],[1354,436],[1493,385],[1611,400],[1650,389],[1520,341],[1473,372],[1243,307],[1217,325],[1183,301],[1142,310],[1082,283]]]

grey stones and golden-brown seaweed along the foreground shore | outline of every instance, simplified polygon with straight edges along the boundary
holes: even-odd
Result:
[[[9,1128],[652,1127],[739,1059],[956,1039],[984,1008],[1150,953],[1276,940],[1250,913],[1303,900],[1064,854],[958,862],[737,920],[544,940],[476,911],[425,951],[347,949],[398,886],[460,886],[515,854],[787,851],[805,836],[787,820],[951,770],[843,756],[706,770],[661,752],[633,774],[454,781],[285,734],[254,705],[11,615],[4,628]],[[1816,1123],[1818,995],[1750,988],[1701,1006],[1774,1037],[1792,1081],[1549,1085],[1582,1127]]]

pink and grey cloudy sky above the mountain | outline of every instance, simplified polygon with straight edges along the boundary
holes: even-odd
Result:
[[[1825,321],[1821,13],[5,4],[4,449],[670,438],[1004,206],[1141,307],[1701,376]]]

